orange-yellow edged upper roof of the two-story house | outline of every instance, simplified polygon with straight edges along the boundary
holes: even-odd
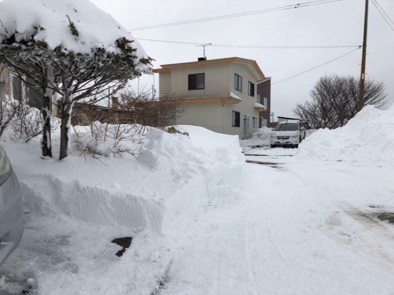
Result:
[[[184,66],[204,66],[204,65],[212,65],[212,64],[221,64],[221,63],[238,63],[244,64],[248,66],[250,71],[254,73],[257,77],[260,77],[262,80],[265,80],[266,77],[263,74],[260,66],[254,60],[243,59],[240,57],[229,57],[223,59],[216,59],[216,60],[205,60],[200,62],[189,62],[189,63],[180,63],[180,64],[168,64],[168,65],[161,65],[162,68],[154,69],[153,72],[155,73],[169,73],[171,69],[177,67],[184,67]]]

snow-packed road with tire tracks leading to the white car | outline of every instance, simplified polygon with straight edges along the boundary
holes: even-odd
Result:
[[[248,164],[242,201],[194,220],[160,294],[394,294],[394,225],[366,217],[394,211],[393,171],[261,152],[283,164]]]

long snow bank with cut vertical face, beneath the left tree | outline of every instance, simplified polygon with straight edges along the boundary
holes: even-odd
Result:
[[[190,137],[150,129],[133,143],[137,159],[99,161],[73,153],[62,162],[42,160],[39,138],[6,142],[4,148],[35,216],[60,214],[162,233],[164,219],[180,214],[187,220],[191,212],[236,197],[241,185],[244,159],[237,136],[183,128]],[[55,150],[58,137],[54,132]]]

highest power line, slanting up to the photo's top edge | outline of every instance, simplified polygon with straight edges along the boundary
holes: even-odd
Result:
[[[279,6],[279,7],[274,7],[274,8],[265,8],[265,9],[260,9],[260,10],[253,10],[253,11],[233,13],[233,14],[227,14],[227,15],[199,18],[199,19],[193,19],[193,20],[188,20],[188,21],[173,22],[173,23],[153,25],[153,26],[145,26],[145,27],[129,29],[128,31],[141,31],[141,30],[148,30],[148,29],[155,29],[155,28],[163,28],[163,27],[170,27],[170,26],[207,22],[207,21],[218,20],[218,19],[234,18],[234,17],[254,15],[254,14],[260,14],[260,13],[266,13],[266,12],[274,12],[274,11],[295,9],[295,8],[319,5],[319,4],[326,4],[326,3],[337,2],[337,1],[342,1],[342,0],[315,0],[315,1],[309,1],[309,2],[295,3],[292,5]]]

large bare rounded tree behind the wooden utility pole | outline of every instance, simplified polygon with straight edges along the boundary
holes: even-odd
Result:
[[[311,128],[344,126],[358,112],[360,79],[352,76],[324,76],[310,91],[311,101],[298,103],[294,113]],[[388,99],[383,82],[366,80],[364,105],[385,108]]]

